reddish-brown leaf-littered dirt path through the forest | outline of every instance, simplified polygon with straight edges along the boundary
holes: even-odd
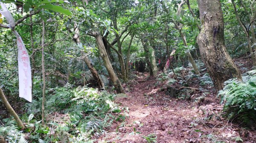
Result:
[[[147,80],[147,76],[141,75],[136,80]],[[241,140],[239,132],[242,136],[248,135],[218,115],[221,111],[218,103],[213,101],[197,107],[192,101],[170,98],[155,86],[156,82],[149,79],[133,84],[127,98],[117,99],[116,103],[125,109],[128,107],[128,117],[116,123],[97,142],[150,143],[145,136],[153,135],[157,143],[236,143]],[[252,142],[245,138],[243,141]]]

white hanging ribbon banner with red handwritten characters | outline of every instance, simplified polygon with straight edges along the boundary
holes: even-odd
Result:
[[[26,50],[26,47],[17,33],[15,28],[15,21],[12,17],[12,14],[8,11],[6,6],[0,2],[3,11],[0,11],[1,14],[9,22],[9,27],[12,28],[12,32],[17,38],[17,48],[18,48],[18,71],[19,71],[19,96],[26,99],[29,102],[32,102],[32,81],[31,81],[31,67],[29,61],[29,54]]]

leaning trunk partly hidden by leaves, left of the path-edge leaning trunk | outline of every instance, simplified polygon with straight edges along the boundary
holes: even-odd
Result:
[[[73,37],[73,40],[76,42],[76,44],[81,48],[82,43],[79,39],[80,35],[79,35],[79,27],[77,26],[77,24],[75,23],[75,35]],[[83,55],[83,59],[85,64],[87,65],[87,67],[89,68],[90,72],[93,75],[93,78],[97,81],[99,88],[103,88],[104,82],[102,81],[102,78],[99,76],[97,70],[93,67],[93,63],[90,62],[89,58],[87,57],[86,53],[82,53]]]

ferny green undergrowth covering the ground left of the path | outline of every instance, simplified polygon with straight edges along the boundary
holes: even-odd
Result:
[[[24,105],[20,131],[13,118],[3,119],[0,135],[9,143],[92,143],[113,122],[122,121],[122,109],[113,103],[116,95],[70,84],[47,91],[45,125],[41,124],[41,98]]]

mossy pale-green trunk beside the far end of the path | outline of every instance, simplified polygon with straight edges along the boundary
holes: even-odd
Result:
[[[157,76],[157,61],[156,61],[156,56],[154,54],[154,48],[152,48],[151,46],[148,46],[147,42],[143,42],[143,48],[145,50],[146,53],[148,53],[148,59],[150,62],[150,70],[152,70],[153,76],[156,77]]]

